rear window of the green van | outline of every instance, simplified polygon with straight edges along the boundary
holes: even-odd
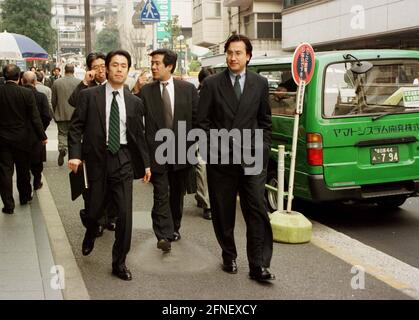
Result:
[[[326,69],[323,115],[327,118],[389,112],[419,112],[419,61],[372,60],[365,73],[351,70],[356,62]]]

